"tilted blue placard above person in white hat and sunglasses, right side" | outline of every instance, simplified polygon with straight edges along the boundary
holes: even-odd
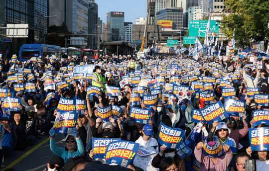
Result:
[[[200,109],[200,112],[205,121],[209,124],[213,124],[214,121],[222,121],[229,117],[221,101]]]

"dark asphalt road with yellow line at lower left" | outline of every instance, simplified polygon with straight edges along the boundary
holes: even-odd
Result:
[[[12,168],[16,171],[43,171],[55,154],[49,147],[49,135],[39,137],[42,139],[37,140],[35,145],[27,146],[24,151],[15,151],[15,156],[4,159],[5,167],[0,168],[0,171],[7,168]],[[57,146],[63,147],[60,143],[62,139],[64,139],[63,134],[56,135],[55,142]]]

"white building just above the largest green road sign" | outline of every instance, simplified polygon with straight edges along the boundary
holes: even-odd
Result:
[[[188,8],[188,23],[190,20],[202,20],[207,15],[208,8],[205,6],[191,6]]]

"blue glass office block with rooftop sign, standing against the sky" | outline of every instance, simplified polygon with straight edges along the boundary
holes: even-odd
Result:
[[[124,27],[124,12],[110,11],[107,13],[107,39],[121,41]]]

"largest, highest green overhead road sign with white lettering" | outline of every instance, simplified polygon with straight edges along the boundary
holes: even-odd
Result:
[[[208,20],[190,20],[189,36],[205,37],[207,23]],[[208,36],[211,36],[212,32],[214,32],[214,37],[219,36],[219,23],[214,20],[210,21],[210,33],[208,34]]]

